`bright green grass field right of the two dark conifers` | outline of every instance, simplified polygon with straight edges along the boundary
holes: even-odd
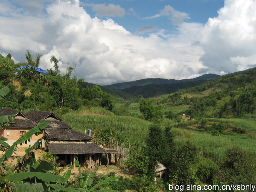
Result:
[[[241,134],[229,131],[221,136],[213,136],[207,132],[176,128],[173,129],[173,131],[176,133],[176,138],[174,140],[175,145],[181,146],[183,143],[190,142],[196,146],[197,157],[211,159],[218,165],[220,165],[225,159],[226,150],[232,148],[232,146],[239,146],[242,150],[256,155],[255,121],[248,119],[206,119],[211,122],[228,122],[237,128],[245,129],[247,133]]]

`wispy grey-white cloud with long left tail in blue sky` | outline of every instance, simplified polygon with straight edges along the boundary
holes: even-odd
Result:
[[[164,9],[162,9],[160,13],[155,14],[154,16],[144,17],[143,19],[153,19],[161,16],[168,16],[173,24],[176,25],[180,25],[185,19],[189,19],[187,13],[177,11],[170,5],[164,6]]]

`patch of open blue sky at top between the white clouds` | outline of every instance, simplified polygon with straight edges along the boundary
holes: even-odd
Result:
[[[187,22],[206,23],[210,17],[218,16],[217,11],[224,6],[224,0],[95,0],[81,1],[81,4],[91,17],[97,16],[102,19],[110,17],[129,32],[136,33],[136,30],[147,26],[154,26],[154,30],[175,31],[176,25],[169,19],[170,16],[144,19],[159,14],[165,6],[171,6],[174,10],[186,13],[189,17],[189,19],[185,19]],[[86,4],[89,5],[86,6]],[[99,16],[97,11],[93,11],[93,4],[119,5],[125,13],[123,16]]]

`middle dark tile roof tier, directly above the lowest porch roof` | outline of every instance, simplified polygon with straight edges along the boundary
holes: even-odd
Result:
[[[45,128],[49,140],[77,140],[86,141],[93,138],[85,133],[73,129]]]

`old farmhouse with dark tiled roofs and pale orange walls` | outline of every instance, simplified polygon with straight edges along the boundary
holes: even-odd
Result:
[[[51,112],[30,110],[26,115],[23,115],[18,110],[2,109],[0,115],[16,115],[12,120],[12,125],[4,127],[0,132],[2,136],[14,141],[20,137],[17,135],[18,133],[24,134],[29,129],[48,120],[49,124],[43,133],[47,140],[45,147],[50,153],[58,156],[57,162],[62,165],[74,165],[75,160],[78,159],[82,166],[93,169],[101,165],[102,153],[107,153],[106,150],[92,142],[91,136],[73,130]],[[43,134],[33,136],[30,141],[35,142]]]

